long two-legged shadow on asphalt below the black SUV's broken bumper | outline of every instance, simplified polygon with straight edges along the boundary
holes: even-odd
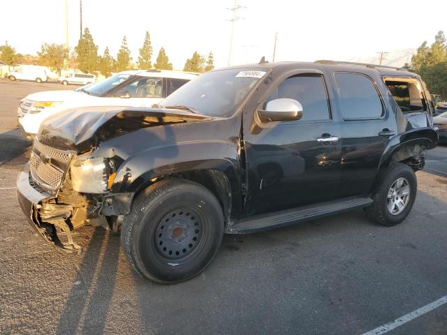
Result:
[[[56,334],[73,334],[77,329],[82,334],[103,334],[115,288],[118,254],[119,239],[103,228],[95,228],[59,317]]]

